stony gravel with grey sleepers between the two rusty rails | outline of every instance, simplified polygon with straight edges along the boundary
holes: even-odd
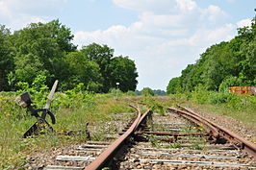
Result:
[[[166,126],[175,125],[181,129],[193,128],[193,125],[173,113],[167,113],[165,116],[153,114],[153,131],[163,130]],[[154,125],[155,124],[155,125]],[[186,124],[187,126],[184,126]],[[162,125],[162,126],[161,126]],[[182,125],[182,126],[180,126]],[[152,129],[151,129],[152,131]],[[192,130],[191,130],[192,131]],[[195,141],[195,144],[203,144],[212,146],[209,149],[195,150],[191,147],[183,147],[182,145],[175,146],[171,143],[163,143],[155,141],[153,135],[149,135],[149,141],[136,141],[129,148],[128,153],[120,159],[119,169],[248,169],[250,166],[256,167],[254,161],[234,148],[231,150],[223,149],[229,147],[230,144],[212,144],[200,143]],[[185,138],[190,136],[184,136]],[[198,137],[199,138],[199,137]],[[151,141],[151,142],[150,142]],[[152,143],[153,141],[153,143]],[[156,142],[156,143],[154,143]],[[179,140],[178,140],[179,142]],[[190,141],[189,144],[192,144]],[[216,147],[216,148],[215,148]],[[229,167],[231,166],[231,167]]]

